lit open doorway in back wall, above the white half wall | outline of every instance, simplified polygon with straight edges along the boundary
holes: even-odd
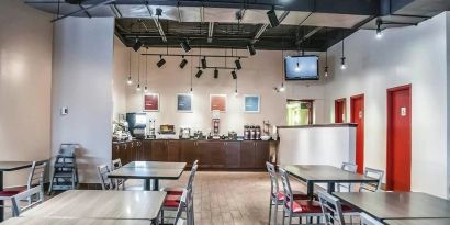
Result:
[[[288,100],[288,125],[313,124],[313,100]]]

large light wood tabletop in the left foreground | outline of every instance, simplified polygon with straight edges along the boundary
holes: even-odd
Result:
[[[66,191],[24,212],[23,217],[157,220],[162,191]]]

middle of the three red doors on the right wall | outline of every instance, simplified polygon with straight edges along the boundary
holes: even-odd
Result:
[[[364,95],[356,95],[350,98],[350,121],[358,124],[357,126],[357,146],[356,146],[356,162],[358,172],[364,171]]]

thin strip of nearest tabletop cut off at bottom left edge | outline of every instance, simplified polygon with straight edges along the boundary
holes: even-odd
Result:
[[[149,225],[146,220],[95,220],[55,217],[14,217],[1,225]]]

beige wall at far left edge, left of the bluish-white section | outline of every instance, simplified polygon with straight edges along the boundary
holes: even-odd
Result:
[[[0,161],[49,158],[50,20],[21,1],[0,1]],[[7,172],[4,184],[25,184],[27,172]]]

